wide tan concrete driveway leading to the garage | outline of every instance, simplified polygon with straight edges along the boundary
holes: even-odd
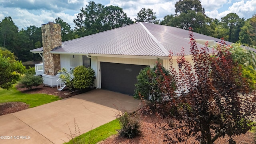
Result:
[[[69,141],[68,126],[75,133],[74,118],[83,134],[116,119],[114,105],[136,110],[139,103],[132,96],[97,89],[0,116],[0,143],[62,144]]]

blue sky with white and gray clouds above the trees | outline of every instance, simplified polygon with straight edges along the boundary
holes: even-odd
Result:
[[[74,29],[73,20],[91,0],[0,0],[0,21],[11,16],[19,29],[62,18]],[[94,0],[104,6],[119,6],[132,20],[142,8],[153,9],[157,19],[162,20],[167,14],[175,14],[178,0]],[[256,13],[256,0],[201,0],[205,14],[210,18],[221,19],[234,12],[240,18],[251,18]],[[135,21],[135,20],[134,20]]]

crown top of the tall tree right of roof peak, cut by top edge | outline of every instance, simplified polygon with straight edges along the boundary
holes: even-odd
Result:
[[[176,14],[188,13],[190,10],[204,14],[200,0],[179,0],[174,6]]]

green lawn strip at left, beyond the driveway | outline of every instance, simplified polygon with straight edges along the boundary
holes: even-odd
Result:
[[[29,108],[60,100],[58,96],[48,94],[25,94],[16,90],[15,86],[10,90],[0,88],[0,103],[2,102],[25,102]]]

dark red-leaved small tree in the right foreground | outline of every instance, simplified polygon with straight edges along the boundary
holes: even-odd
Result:
[[[168,120],[168,125],[161,126],[166,131],[164,141],[176,143],[195,136],[200,144],[212,144],[219,137],[228,136],[229,144],[234,144],[232,136],[245,134],[254,126],[255,94],[247,93],[248,84],[242,77],[241,67],[232,60],[230,46],[217,44],[216,53],[211,56],[207,43],[204,48],[196,46],[192,32],[190,44],[194,65],[185,59],[182,50],[177,59],[178,76],[174,77],[178,97],[170,96],[172,101],[166,104],[177,108],[178,122],[168,110],[168,113],[158,110],[159,116]],[[242,93],[238,93],[238,83]]]

